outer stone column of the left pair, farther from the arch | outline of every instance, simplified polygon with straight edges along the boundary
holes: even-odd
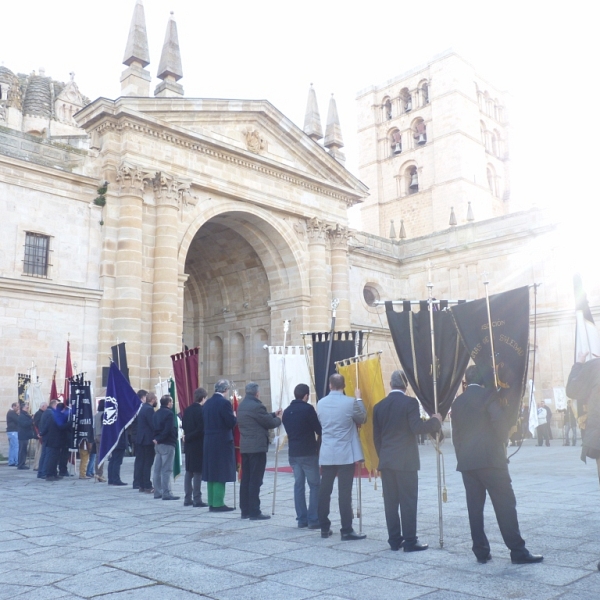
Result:
[[[134,388],[141,385],[142,196],[151,177],[142,168],[127,163],[117,169],[120,191],[112,343],[126,343],[129,378]]]

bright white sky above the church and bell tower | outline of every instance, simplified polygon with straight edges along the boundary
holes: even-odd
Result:
[[[74,71],[91,99],[116,98],[134,4],[3,0],[0,62],[14,72],[44,67],[61,81]],[[566,221],[584,216],[597,231],[600,53],[592,2],[144,0],[144,7],[153,77],[175,12],[186,96],[266,98],[302,127],[310,83],[323,126],[335,93],[355,174],[356,93],[453,47],[509,93],[515,204],[550,206]]]

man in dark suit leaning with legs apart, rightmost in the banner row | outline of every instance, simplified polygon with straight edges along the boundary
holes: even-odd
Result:
[[[512,562],[541,562],[544,557],[525,548],[519,531],[517,500],[506,460],[508,406],[503,406],[491,390],[484,388],[483,377],[475,365],[467,369],[465,379],[467,389],[452,405],[452,441],[458,461],[456,470],[462,473],[467,493],[473,553],[482,564],[492,558],[483,527],[487,492]]]

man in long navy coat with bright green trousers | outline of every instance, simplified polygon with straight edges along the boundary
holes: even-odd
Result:
[[[208,510],[228,512],[225,505],[225,484],[235,481],[235,448],[233,428],[237,419],[227,398],[231,385],[226,379],[215,383],[215,393],[204,403],[204,453],[202,456],[202,481],[206,481]]]

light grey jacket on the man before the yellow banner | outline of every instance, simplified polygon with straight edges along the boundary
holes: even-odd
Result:
[[[349,465],[364,460],[357,425],[367,422],[362,400],[331,391],[317,404],[323,428],[319,464]]]

